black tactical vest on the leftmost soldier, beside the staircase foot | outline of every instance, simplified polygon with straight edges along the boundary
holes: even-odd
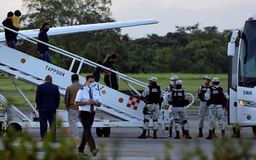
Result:
[[[161,88],[158,85],[149,85],[148,104],[160,103]]]

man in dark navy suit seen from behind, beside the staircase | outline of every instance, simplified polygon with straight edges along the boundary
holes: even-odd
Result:
[[[36,105],[39,108],[40,134],[44,140],[47,132],[47,120],[50,124],[51,138],[56,138],[56,109],[60,104],[58,86],[52,84],[52,77],[46,76],[45,83],[37,87]]]

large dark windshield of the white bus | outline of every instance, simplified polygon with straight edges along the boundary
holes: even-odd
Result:
[[[238,86],[256,86],[256,20],[246,21],[240,40]]]

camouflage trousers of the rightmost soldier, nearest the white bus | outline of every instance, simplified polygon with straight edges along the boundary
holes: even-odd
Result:
[[[215,128],[215,120],[218,120],[220,130],[225,130],[224,110],[221,104],[211,104],[209,106],[209,130]]]

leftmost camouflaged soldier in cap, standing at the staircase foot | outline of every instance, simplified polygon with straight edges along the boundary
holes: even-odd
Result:
[[[153,139],[157,139],[156,131],[158,129],[158,114],[160,108],[160,104],[163,101],[163,92],[160,86],[158,86],[156,83],[158,79],[156,77],[148,78],[149,85],[141,94],[141,98],[146,103],[146,106],[143,108],[143,114],[144,114],[144,125],[143,125],[143,132],[142,135],[138,136],[137,138],[140,139],[146,139],[146,131],[148,130],[148,123],[150,120],[150,117],[152,117],[153,120]]]

